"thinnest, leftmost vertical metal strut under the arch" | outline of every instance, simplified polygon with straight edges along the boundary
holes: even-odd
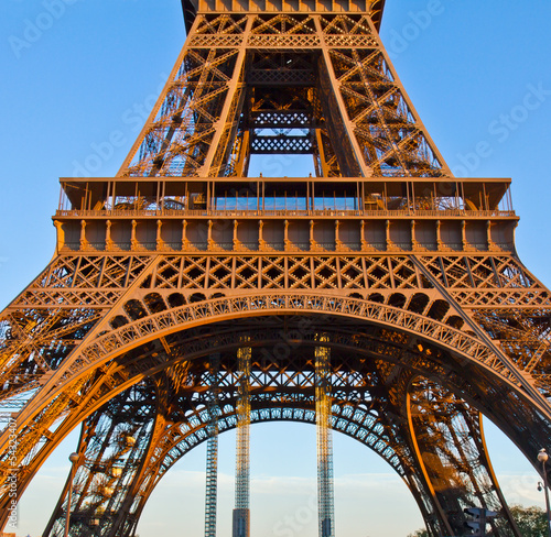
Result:
[[[210,355],[207,382],[207,463],[206,463],[206,493],[205,493],[205,537],[216,537],[216,504],[218,500],[218,374],[220,355]]]

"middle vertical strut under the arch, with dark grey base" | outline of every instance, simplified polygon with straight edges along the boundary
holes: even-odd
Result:
[[[242,347],[237,351],[239,397],[237,399],[236,508],[234,509],[234,537],[249,537],[250,531],[250,347]]]

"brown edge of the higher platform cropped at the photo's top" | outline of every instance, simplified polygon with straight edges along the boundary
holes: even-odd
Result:
[[[197,13],[369,13],[380,28],[386,0],[182,0],[190,32]]]

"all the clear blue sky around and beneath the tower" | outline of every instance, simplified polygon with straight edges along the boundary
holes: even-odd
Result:
[[[382,23],[401,80],[456,175],[512,177],[517,249],[548,285],[550,20],[551,4],[541,1],[387,0]],[[94,176],[117,173],[184,39],[179,0],[2,1],[0,306],[52,257],[58,177],[83,168]],[[293,175],[296,163],[288,157],[263,165]],[[314,428],[262,425],[252,434],[255,533],[291,528],[295,537],[315,536]],[[542,505],[528,462],[498,432],[488,436],[511,503]],[[60,447],[23,497],[20,535],[41,534],[74,442],[73,436]],[[233,506],[230,432],[222,437],[220,457],[218,535],[225,537]],[[197,448],[163,480],[141,537],[182,534],[182,517],[190,534],[202,531],[204,460]],[[398,478],[339,436],[335,475],[338,534],[400,537],[421,526]]]

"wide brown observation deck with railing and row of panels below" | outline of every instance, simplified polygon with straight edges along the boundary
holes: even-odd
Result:
[[[514,251],[510,179],[62,178],[69,251]]]

